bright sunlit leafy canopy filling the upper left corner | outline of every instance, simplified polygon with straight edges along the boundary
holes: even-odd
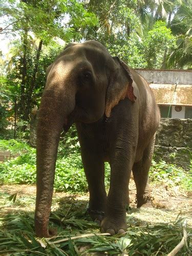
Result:
[[[97,24],[93,13],[88,13],[76,0],[59,1],[4,1],[1,15],[9,17],[8,30],[24,34],[32,31],[44,44],[49,44],[53,37],[70,40],[78,34],[75,28]],[[65,20],[65,22],[63,22]],[[9,26],[9,24],[12,26]],[[73,25],[75,28],[73,28]],[[10,31],[9,31],[10,32]]]

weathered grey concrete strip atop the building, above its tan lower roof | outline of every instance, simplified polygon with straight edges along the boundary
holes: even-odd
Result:
[[[191,84],[192,70],[151,70],[136,69],[149,83]]]

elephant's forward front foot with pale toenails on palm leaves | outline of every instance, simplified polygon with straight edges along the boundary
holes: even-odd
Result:
[[[105,217],[101,222],[101,232],[110,233],[111,236],[114,234],[122,234],[126,230],[126,218],[114,219],[110,217]]]

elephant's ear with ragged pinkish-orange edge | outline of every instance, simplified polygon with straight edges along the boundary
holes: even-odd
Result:
[[[115,70],[111,75],[110,84],[106,92],[105,115],[110,117],[111,110],[120,100],[129,98],[135,102],[136,96],[132,86],[130,68],[119,58],[114,57]]]

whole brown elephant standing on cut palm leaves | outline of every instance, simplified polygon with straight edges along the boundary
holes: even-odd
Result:
[[[69,44],[47,69],[38,111],[36,235],[53,235],[48,225],[63,130],[75,123],[90,216],[100,222],[101,232],[114,235],[126,230],[132,172],[137,207],[151,200],[148,172],[159,120],[155,97],[142,76],[98,41]],[[104,162],[111,167],[108,195]]]

